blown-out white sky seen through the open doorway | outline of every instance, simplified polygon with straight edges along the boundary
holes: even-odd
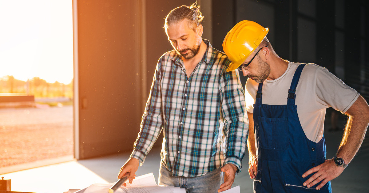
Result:
[[[72,0],[0,0],[0,77],[73,79]]]

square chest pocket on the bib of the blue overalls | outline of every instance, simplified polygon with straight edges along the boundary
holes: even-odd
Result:
[[[286,150],[289,143],[287,117],[259,117],[258,120],[260,147],[267,150]]]

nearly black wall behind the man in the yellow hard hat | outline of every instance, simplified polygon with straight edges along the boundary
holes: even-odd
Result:
[[[364,0],[213,0],[213,44],[220,49],[235,24],[255,21],[269,28],[267,37],[281,58],[326,67],[369,96],[368,5]],[[244,85],[247,78],[240,79]]]

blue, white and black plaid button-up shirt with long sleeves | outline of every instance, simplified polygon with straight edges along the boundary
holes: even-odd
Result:
[[[211,47],[187,78],[175,50],[161,56],[131,157],[141,165],[163,129],[161,160],[173,176],[195,177],[232,163],[241,171],[248,136],[245,96],[230,60]],[[238,172],[237,171],[237,172]]]

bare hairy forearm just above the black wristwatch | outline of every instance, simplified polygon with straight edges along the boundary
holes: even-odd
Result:
[[[338,148],[337,157],[342,157],[346,163],[349,163],[358,152],[365,137],[366,129],[368,128],[368,104],[359,96],[346,114],[349,115],[349,118],[344,136]]]

